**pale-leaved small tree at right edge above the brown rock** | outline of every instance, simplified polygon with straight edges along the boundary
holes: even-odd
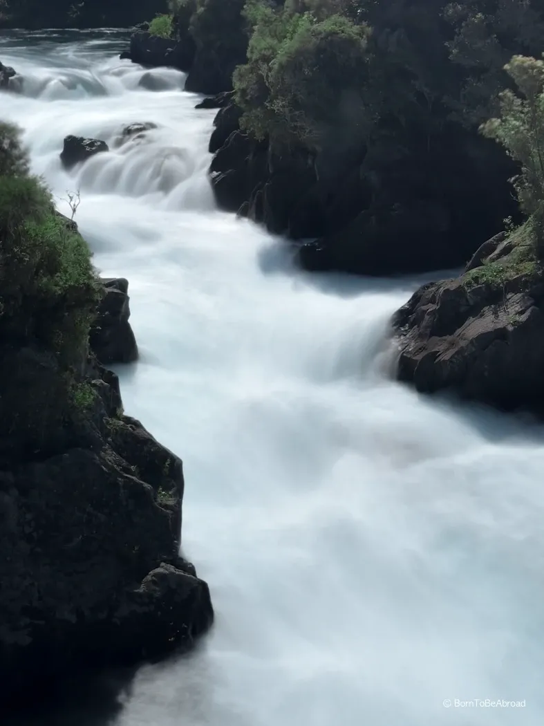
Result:
[[[503,144],[521,165],[512,179],[519,205],[535,220],[538,244],[544,242],[544,62],[516,55],[506,64],[516,92],[500,94],[500,118],[481,126],[485,136]]]

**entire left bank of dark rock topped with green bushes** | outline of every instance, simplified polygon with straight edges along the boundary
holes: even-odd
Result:
[[[1,707],[189,648],[213,608],[179,555],[182,462],[123,415],[89,346],[92,327],[111,359],[135,356],[126,281],[100,283],[6,124],[0,239]]]

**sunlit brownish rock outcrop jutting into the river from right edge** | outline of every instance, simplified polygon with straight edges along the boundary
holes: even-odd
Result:
[[[544,272],[527,229],[486,242],[460,277],[424,285],[397,312],[400,380],[544,411]]]

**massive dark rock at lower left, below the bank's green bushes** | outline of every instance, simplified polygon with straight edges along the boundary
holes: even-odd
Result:
[[[11,346],[0,359],[3,410],[14,386],[30,398],[55,380],[38,351]],[[81,385],[49,449],[25,451],[11,434],[0,456],[3,705],[73,672],[189,648],[213,620],[207,585],[178,555],[181,460],[123,416],[115,374],[89,359]]]

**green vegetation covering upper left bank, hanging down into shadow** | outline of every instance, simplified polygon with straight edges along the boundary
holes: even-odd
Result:
[[[86,242],[28,169],[17,130],[0,123],[0,438],[35,454],[88,400],[81,370],[101,288]]]

